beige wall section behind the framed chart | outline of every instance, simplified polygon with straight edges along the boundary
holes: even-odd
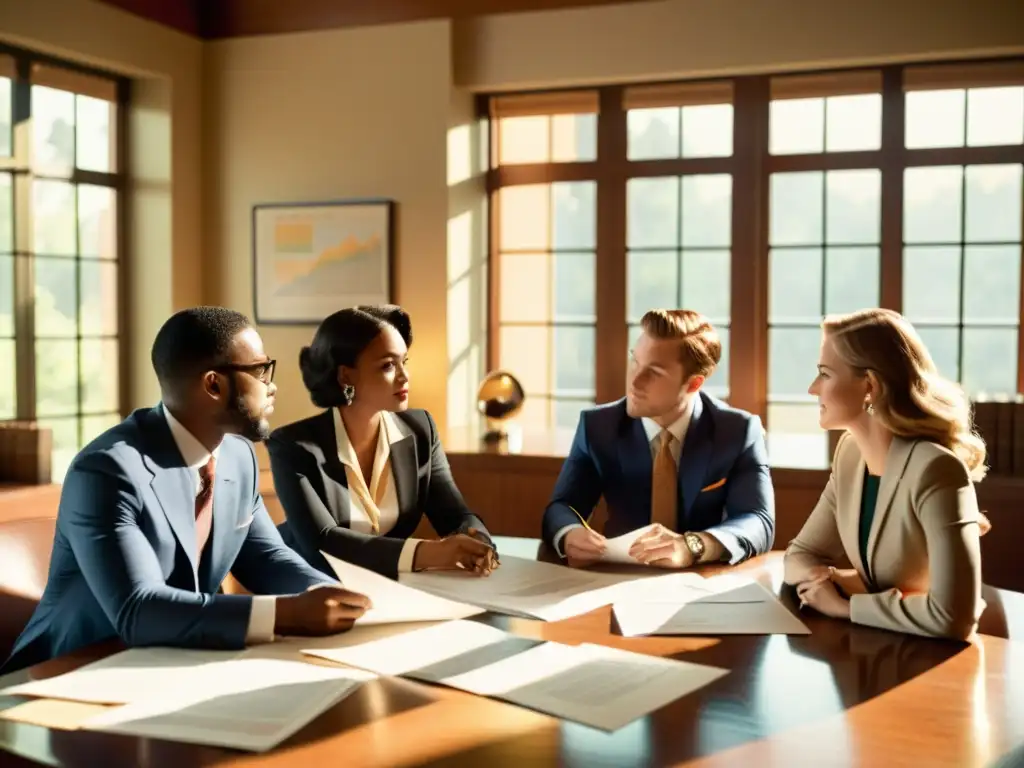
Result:
[[[414,407],[445,424],[447,22],[210,43],[204,60],[205,298],[252,312],[252,206],[396,203],[394,299],[413,317]],[[314,327],[260,328],[279,359],[274,422],[315,413],[299,349]]]

